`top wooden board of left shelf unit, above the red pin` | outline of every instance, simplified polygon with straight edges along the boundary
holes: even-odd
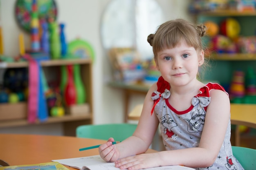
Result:
[[[88,64],[91,63],[91,59],[65,59],[65,60],[47,60],[42,61],[41,66],[61,66],[69,64]],[[0,68],[21,68],[27,67],[28,62],[0,62]]]

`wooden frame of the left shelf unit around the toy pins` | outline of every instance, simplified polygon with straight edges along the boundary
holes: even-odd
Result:
[[[47,121],[36,121],[34,124],[52,124],[62,123],[64,135],[75,136],[75,129],[82,124],[92,124],[93,104],[92,104],[92,60],[90,59],[68,59],[68,60],[47,60],[40,62],[43,69],[51,69],[63,65],[79,64],[81,71],[81,79],[85,86],[86,103],[88,103],[90,111],[84,115],[64,115],[62,117],[48,117]],[[28,62],[0,62],[0,69],[3,68],[24,68],[28,67]],[[47,77],[47,75],[46,75]],[[0,121],[0,128],[29,126],[27,119],[10,119]]]

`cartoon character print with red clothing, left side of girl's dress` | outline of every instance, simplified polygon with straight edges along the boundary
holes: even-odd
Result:
[[[162,126],[164,126],[164,134],[166,135],[166,137],[175,140],[175,137],[177,135],[171,129],[176,127],[177,124],[173,121],[173,119],[171,118],[171,115],[164,115],[161,118],[161,120],[162,120],[161,124]]]

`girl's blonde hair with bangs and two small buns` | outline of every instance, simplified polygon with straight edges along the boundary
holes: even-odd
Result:
[[[206,26],[195,25],[183,19],[170,20],[161,24],[155,34],[148,35],[148,43],[153,47],[155,61],[159,51],[174,48],[182,40],[198,52],[203,50],[201,37],[205,35],[205,31]]]

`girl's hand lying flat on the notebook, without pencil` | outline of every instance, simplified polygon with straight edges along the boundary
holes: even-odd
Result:
[[[115,161],[115,166],[117,168],[128,169],[128,170],[138,170],[144,168],[152,168],[159,166],[159,154],[156,153],[144,153],[140,155],[135,155],[131,157],[126,157]]]

